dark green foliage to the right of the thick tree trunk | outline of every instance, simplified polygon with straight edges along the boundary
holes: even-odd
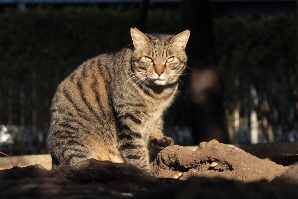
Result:
[[[223,78],[237,77],[244,85],[255,81],[264,84],[277,77],[286,79],[281,77],[285,69],[297,65],[294,17],[222,17],[215,20],[215,31]]]

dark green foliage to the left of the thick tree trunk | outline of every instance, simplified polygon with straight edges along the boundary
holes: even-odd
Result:
[[[131,43],[130,28],[135,26],[138,11],[122,6],[68,6],[0,13],[0,122],[7,123],[8,90],[12,90],[13,123],[19,123],[21,85],[26,94],[26,122],[31,122],[33,108],[47,119],[45,99],[52,99],[58,84],[74,68],[88,58]],[[177,33],[179,15],[154,9],[147,24],[148,32]],[[37,100],[31,97],[32,89]]]

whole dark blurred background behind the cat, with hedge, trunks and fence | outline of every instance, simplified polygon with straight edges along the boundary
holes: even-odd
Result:
[[[131,27],[191,31],[164,115],[175,143],[297,141],[297,14],[296,0],[0,0],[0,151],[47,153],[57,86]]]

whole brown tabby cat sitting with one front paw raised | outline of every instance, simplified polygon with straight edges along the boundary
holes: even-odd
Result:
[[[149,171],[163,136],[162,113],[171,104],[186,67],[190,35],[144,34],[133,44],[81,64],[55,93],[47,148],[52,169],[85,159],[125,162]]]

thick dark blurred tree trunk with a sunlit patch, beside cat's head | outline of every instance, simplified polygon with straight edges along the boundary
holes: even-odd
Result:
[[[228,143],[211,0],[183,0],[182,23],[191,32],[186,52],[192,69],[189,86],[194,143],[211,139]]]

